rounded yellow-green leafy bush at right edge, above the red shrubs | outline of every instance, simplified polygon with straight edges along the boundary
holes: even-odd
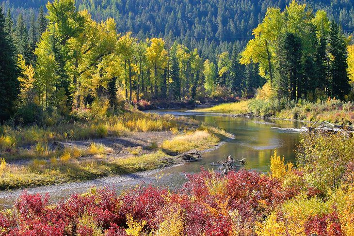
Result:
[[[297,166],[302,168],[308,182],[328,191],[343,182],[352,181],[350,163],[354,157],[354,138],[347,134],[306,133],[297,151]]]

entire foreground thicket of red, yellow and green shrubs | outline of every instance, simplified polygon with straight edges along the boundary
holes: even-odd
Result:
[[[317,137],[317,138],[316,138]],[[201,170],[188,175],[183,188],[170,191],[136,187],[117,194],[114,189],[91,189],[65,201],[50,204],[46,195],[24,192],[14,208],[0,212],[2,235],[353,235],[353,170],[326,167],[323,140],[335,139],[328,148],[343,157],[342,166],[353,162],[353,137],[321,134],[302,142],[299,168],[276,153],[271,173],[241,170],[222,175]],[[347,146],[348,148],[342,148]],[[337,149],[336,149],[337,148]],[[332,152],[332,151],[333,152]],[[317,161],[300,153],[317,155]],[[330,155],[329,154],[329,155]],[[350,157],[349,159],[344,157]],[[311,166],[309,169],[308,166]],[[329,179],[341,172],[338,185],[311,181],[313,170]],[[344,177],[346,176],[346,177]]]

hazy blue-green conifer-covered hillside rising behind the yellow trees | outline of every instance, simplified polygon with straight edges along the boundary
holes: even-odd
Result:
[[[314,11],[323,9],[335,18],[343,30],[354,29],[354,3],[349,0],[307,0]],[[22,13],[29,25],[32,8],[38,14],[39,7],[47,0],[5,0],[6,12],[11,9],[13,18]],[[284,10],[290,0],[77,0],[79,10],[87,9],[94,20],[113,17],[120,32],[132,31],[140,39],[164,38],[168,46],[178,40],[189,48],[197,48],[204,58],[228,50],[229,42],[238,41],[243,47],[252,38],[252,29],[261,22],[268,7]],[[15,20],[16,21],[16,20]],[[29,26],[28,26],[29,27]]]

